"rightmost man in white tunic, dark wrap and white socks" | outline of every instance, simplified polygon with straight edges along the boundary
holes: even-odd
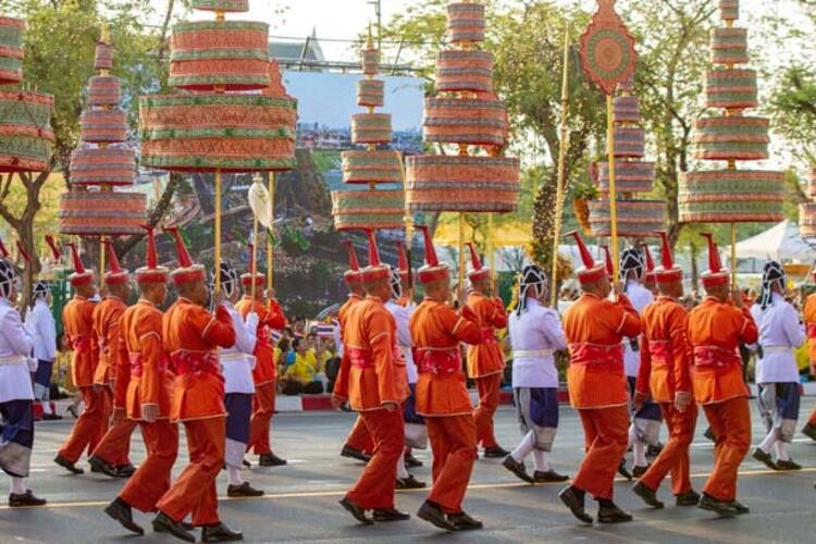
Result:
[[[755,347],[757,404],[768,434],[754,450],[754,458],[774,470],[799,470],[784,445],[790,444],[799,418],[800,381],[793,349],[805,339],[799,314],[782,295],[784,270],[776,261],[763,268],[763,290],[759,301],[751,307],[759,344]],[[771,457],[776,453],[776,461]]]

